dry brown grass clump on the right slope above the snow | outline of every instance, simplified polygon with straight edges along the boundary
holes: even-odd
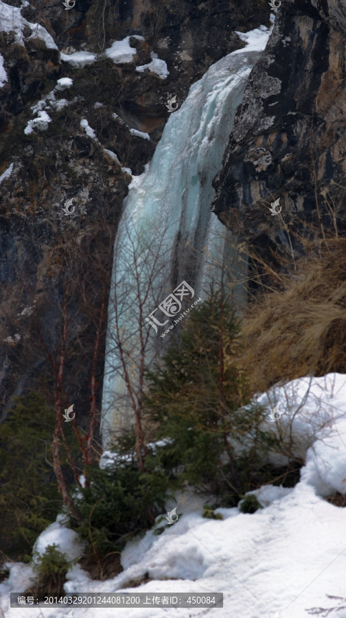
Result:
[[[280,380],[346,373],[346,240],[326,240],[252,303],[240,363],[255,393]]]

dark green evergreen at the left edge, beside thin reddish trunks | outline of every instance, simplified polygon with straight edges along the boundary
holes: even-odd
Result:
[[[32,392],[15,398],[0,425],[0,545],[12,559],[30,560],[62,506],[51,466],[54,422],[54,410]]]

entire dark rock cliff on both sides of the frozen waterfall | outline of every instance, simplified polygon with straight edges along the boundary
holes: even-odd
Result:
[[[100,408],[126,170],[140,174],[152,157],[165,102],[176,95],[181,104],[213,62],[244,45],[234,31],[268,25],[270,8],[264,0],[20,4],[0,12],[0,417],[13,394],[41,384],[52,395],[62,355],[65,401],[83,416],[93,364]],[[336,221],[345,233],[345,34],[343,0],[281,1],[214,181],[217,216],[274,266],[279,254],[301,252],[288,230],[327,231]],[[104,55],[134,35],[143,39],[129,39],[132,60]],[[76,52],[93,61],[73,61]],[[152,54],[167,78],[136,71]],[[62,78],[73,83],[57,88]],[[277,198],[281,216],[271,216]]]

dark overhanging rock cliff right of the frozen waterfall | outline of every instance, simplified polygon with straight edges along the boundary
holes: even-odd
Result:
[[[212,209],[270,265],[301,253],[288,230],[345,233],[345,45],[344,0],[283,0],[238,108]]]

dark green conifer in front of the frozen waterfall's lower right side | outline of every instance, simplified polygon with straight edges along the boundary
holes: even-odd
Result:
[[[262,430],[264,410],[251,404],[246,371],[237,365],[240,323],[231,301],[211,288],[185,317],[178,341],[146,372],[146,421],[166,443],[153,460],[172,487],[192,485],[236,506],[268,482],[263,461],[275,438]]]

